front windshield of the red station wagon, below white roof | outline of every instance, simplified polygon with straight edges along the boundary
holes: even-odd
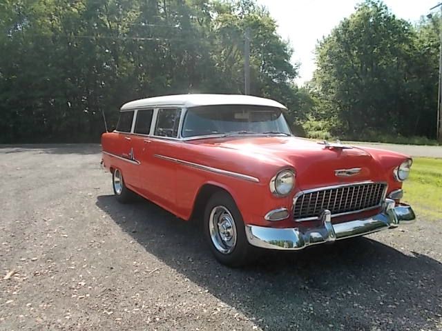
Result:
[[[211,134],[291,135],[280,108],[249,105],[200,106],[189,108],[182,137]]]

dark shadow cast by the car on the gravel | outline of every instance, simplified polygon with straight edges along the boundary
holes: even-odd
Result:
[[[197,225],[153,203],[100,196],[97,206],[147,252],[265,330],[415,330],[441,322],[442,264],[423,254],[359,238],[264,252],[231,269],[211,256]]]

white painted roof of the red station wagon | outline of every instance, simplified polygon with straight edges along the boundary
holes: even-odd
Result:
[[[125,103],[121,110],[135,108],[158,107],[158,106],[180,106],[183,108],[195,106],[214,105],[253,105],[285,108],[281,103],[264,98],[252,97],[251,95],[240,94],[177,94],[165,95],[164,97],[153,97],[140,99]]]

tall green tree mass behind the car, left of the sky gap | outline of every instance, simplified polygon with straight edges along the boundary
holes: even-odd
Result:
[[[296,105],[292,51],[254,1],[3,0],[0,143],[97,141],[126,101],[241,93],[246,28],[252,94]]]

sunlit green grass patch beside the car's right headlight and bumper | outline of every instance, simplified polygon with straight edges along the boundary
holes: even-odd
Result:
[[[415,158],[403,190],[418,217],[442,220],[442,159]]]

